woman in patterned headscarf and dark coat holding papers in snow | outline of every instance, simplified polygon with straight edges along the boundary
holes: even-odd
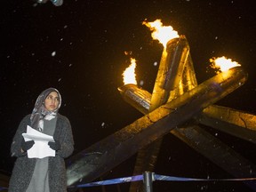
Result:
[[[66,167],[64,158],[74,150],[71,125],[66,116],[58,113],[61,105],[60,92],[49,88],[36,100],[31,115],[25,116],[12,141],[11,154],[16,156],[12,170],[9,192],[63,192],[67,191]],[[55,142],[49,142],[55,150],[55,156],[28,158],[28,149],[34,140],[25,141],[22,133],[27,126],[39,132],[53,136]]]

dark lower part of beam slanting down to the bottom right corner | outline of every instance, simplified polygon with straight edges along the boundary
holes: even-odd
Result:
[[[173,135],[194,148],[236,178],[256,177],[256,165],[239,155],[234,149],[218,140],[199,126],[177,128],[171,131]],[[248,187],[256,190],[255,181],[244,181]]]

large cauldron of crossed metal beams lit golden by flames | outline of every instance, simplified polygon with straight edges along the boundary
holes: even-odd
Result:
[[[125,84],[118,88],[124,100],[140,110],[144,116],[71,156],[67,161],[68,186],[99,178],[104,172],[110,171],[137,152],[140,154],[140,150],[154,144],[156,140],[161,140],[169,132],[237,178],[256,175],[254,164],[197,125],[207,124],[219,129],[215,123],[221,121],[228,126],[227,130],[222,126],[221,131],[232,132],[237,137],[255,141],[255,125],[247,127],[234,119],[226,121],[225,114],[232,109],[213,105],[243,85],[247,76],[242,67],[235,67],[197,84],[186,37],[170,40],[162,54],[152,95],[135,84]],[[224,118],[216,115],[218,112],[222,112]],[[234,114],[238,115],[237,113],[244,116],[245,122],[249,122],[253,116],[235,110]],[[182,127],[193,119],[196,119],[195,124]],[[244,132],[242,136],[241,129]],[[211,152],[207,146],[214,146]],[[141,174],[148,169],[150,167],[139,166],[134,173]],[[248,185],[252,188],[256,186],[255,182]],[[138,186],[131,187],[130,191],[135,191],[134,188]],[[73,189],[70,188],[70,191]]]

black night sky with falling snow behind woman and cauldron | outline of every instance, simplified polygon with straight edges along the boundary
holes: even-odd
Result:
[[[12,137],[21,118],[32,112],[37,96],[48,87],[57,88],[62,96],[60,114],[71,122],[74,155],[142,116],[117,88],[123,85],[122,73],[130,65],[130,56],[124,52],[131,52],[137,60],[137,81],[152,92],[158,70],[154,63],[160,62],[163,46],[142,25],[146,19],[161,19],[187,37],[199,84],[214,76],[209,68],[212,57],[239,62],[249,74],[247,82],[217,104],[256,114],[255,8],[252,0],[64,0],[60,7],[50,2],[2,0],[0,170],[12,172]],[[217,133],[216,137],[256,164],[255,145]],[[135,157],[101,179],[131,176]],[[164,136],[156,173],[232,177],[171,134]],[[127,186],[119,187],[128,191]],[[106,189],[117,191],[116,186]],[[154,190],[250,191],[240,182],[164,181],[155,182]]]

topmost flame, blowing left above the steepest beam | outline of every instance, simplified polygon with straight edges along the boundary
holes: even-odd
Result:
[[[142,25],[146,25],[152,32],[153,39],[158,40],[166,47],[168,41],[173,38],[179,37],[178,32],[173,30],[172,26],[163,26],[161,20],[155,20],[154,22],[143,21]]]

